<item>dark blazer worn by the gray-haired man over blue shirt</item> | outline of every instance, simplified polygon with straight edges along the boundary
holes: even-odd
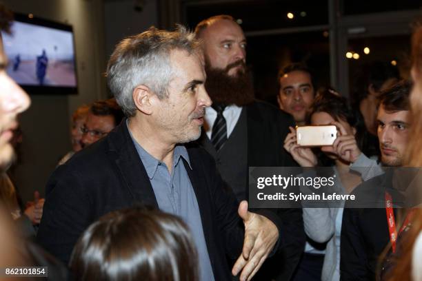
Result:
[[[231,280],[225,255],[236,258],[243,246],[243,223],[234,195],[222,188],[214,159],[192,144],[184,161],[203,225],[215,280]],[[123,121],[108,136],[74,155],[54,171],[46,187],[46,203],[37,240],[54,256],[68,263],[81,233],[99,217],[132,205],[158,208],[148,175],[128,127]],[[278,216],[267,210],[277,225]],[[283,246],[283,240],[279,240]]]

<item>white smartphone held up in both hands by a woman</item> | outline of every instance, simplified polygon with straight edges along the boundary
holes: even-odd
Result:
[[[296,127],[297,144],[303,147],[332,145],[337,138],[334,125]]]

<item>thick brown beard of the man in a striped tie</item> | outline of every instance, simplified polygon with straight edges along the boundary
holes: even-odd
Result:
[[[238,70],[236,76],[230,76],[229,70],[238,65],[243,65],[243,70]],[[213,103],[243,106],[254,101],[252,75],[243,61],[236,61],[225,69],[220,69],[210,67],[210,63],[206,59],[205,72],[207,74],[205,90]]]

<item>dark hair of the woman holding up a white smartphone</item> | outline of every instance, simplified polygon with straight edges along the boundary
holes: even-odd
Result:
[[[345,121],[350,127],[354,127],[354,129],[356,129],[356,134],[354,135],[356,143],[359,149],[363,151],[366,147],[365,142],[368,141],[369,133],[365,127],[363,116],[355,110],[352,110],[347,98],[341,96],[338,92],[333,90],[332,87],[325,87],[324,90],[321,90],[321,92],[316,94],[314,102],[310,107],[308,123],[310,123],[312,114],[316,112],[325,112],[330,114],[335,121]],[[323,154],[319,154],[318,156],[323,166],[334,165],[333,161],[328,159],[328,157],[323,156]]]

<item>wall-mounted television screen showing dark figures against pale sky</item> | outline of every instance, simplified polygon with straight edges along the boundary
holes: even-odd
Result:
[[[30,94],[77,94],[71,25],[15,14],[11,34],[1,32],[8,74]]]

